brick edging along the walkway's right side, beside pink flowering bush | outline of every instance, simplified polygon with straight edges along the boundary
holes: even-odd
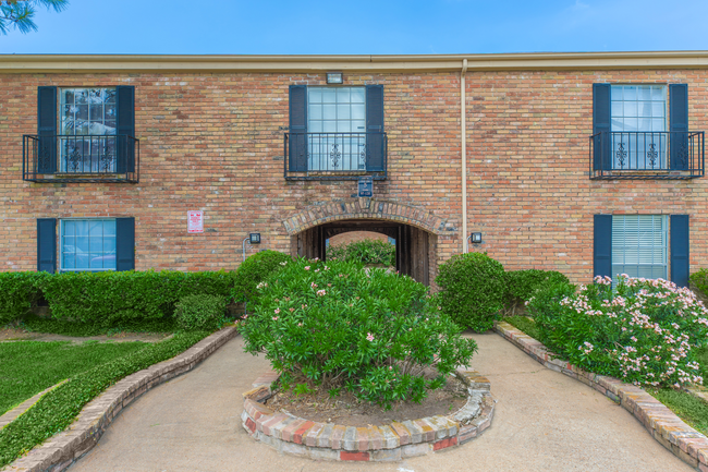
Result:
[[[708,472],[708,438],[684,423],[663,403],[642,388],[614,377],[593,374],[556,358],[538,340],[505,322],[495,329],[546,367],[586,384],[634,415],[649,434],[674,456],[701,472]]]

